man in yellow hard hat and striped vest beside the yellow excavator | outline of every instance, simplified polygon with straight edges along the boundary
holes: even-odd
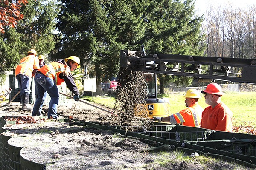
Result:
[[[153,119],[160,122],[181,123],[184,126],[200,127],[202,111],[204,110],[198,104],[198,99],[201,99],[200,92],[196,89],[189,89],[184,97],[186,98],[185,105],[187,108],[168,117],[153,117]]]

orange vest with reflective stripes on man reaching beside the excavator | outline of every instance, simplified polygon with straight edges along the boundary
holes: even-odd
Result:
[[[200,127],[203,110],[204,109],[198,105],[198,103],[195,103],[189,108],[175,113],[173,116],[177,123],[182,123],[184,126]]]

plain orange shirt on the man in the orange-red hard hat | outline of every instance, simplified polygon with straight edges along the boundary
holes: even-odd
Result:
[[[201,127],[232,132],[232,116],[232,111],[222,102],[214,108],[208,106],[202,113]]]

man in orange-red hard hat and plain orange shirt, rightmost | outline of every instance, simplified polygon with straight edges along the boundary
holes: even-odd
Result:
[[[206,104],[210,105],[202,113],[201,127],[212,130],[232,132],[232,116],[230,109],[221,102],[221,86],[210,83],[204,93]]]

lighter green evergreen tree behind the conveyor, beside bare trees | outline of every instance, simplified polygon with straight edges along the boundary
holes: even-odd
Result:
[[[157,0],[145,8],[147,31],[144,38],[148,53],[202,55],[202,17],[197,17],[195,0]],[[186,77],[158,75],[160,93],[169,82],[176,85],[189,85],[192,80]]]

